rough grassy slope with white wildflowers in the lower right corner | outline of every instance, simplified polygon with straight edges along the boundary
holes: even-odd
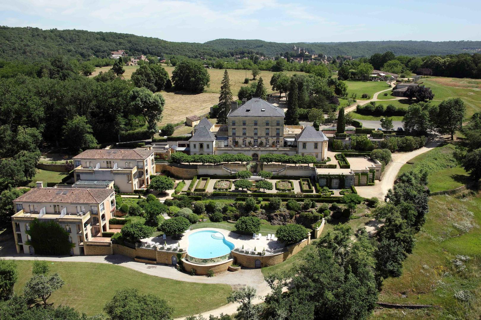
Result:
[[[384,280],[379,301],[441,308],[381,309],[371,319],[479,319],[481,198],[433,196],[429,209],[413,253],[403,263],[403,274]],[[456,267],[455,259],[464,267]]]

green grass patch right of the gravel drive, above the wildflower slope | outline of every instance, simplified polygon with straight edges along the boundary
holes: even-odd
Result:
[[[424,154],[409,160],[411,164],[405,164],[399,170],[399,175],[410,169],[426,169],[428,175],[428,187],[431,192],[451,190],[460,187],[470,181],[468,173],[457,164],[453,156],[455,146],[446,144],[434,148]]]

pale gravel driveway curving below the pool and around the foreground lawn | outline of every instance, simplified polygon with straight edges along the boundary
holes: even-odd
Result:
[[[3,251],[3,250],[2,250]],[[11,250],[9,250],[11,251]],[[3,253],[3,252],[2,252]],[[5,254],[7,254],[5,252]],[[270,288],[264,280],[261,269],[241,269],[237,272],[224,272],[216,274],[215,277],[208,278],[204,276],[190,276],[187,273],[178,272],[174,267],[162,264],[147,264],[132,261],[132,259],[113,254],[108,256],[65,256],[65,257],[53,257],[53,256],[40,256],[40,255],[17,255],[7,254],[1,258],[11,260],[46,260],[46,261],[68,261],[68,262],[95,262],[95,263],[110,263],[123,267],[127,267],[141,273],[150,274],[157,277],[163,277],[168,279],[174,279],[178,281],[196,282],[204,284],[228,284],[233,290],[239,289],[244,286],[252,286],[257,290],[259,296],[254,300],[255,304],[264,302],[264,297],[270,293]],[[219,316],[221,313],[233,314],[236,313],[237,303],[228,303],[222,307],[206,311],[202,313],[205,318],[209,318],[209,315]],[[175,320],[183,320],[186,317],[176,318]]]

